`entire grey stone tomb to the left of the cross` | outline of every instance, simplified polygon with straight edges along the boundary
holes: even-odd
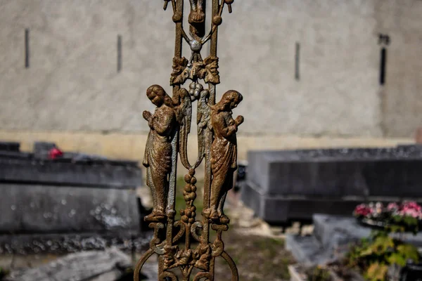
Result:
[[[0,252],[130,248],[134,238],[146,244],[138,163],[72,153],[48,159],[53,147],[37,143],[37,153],[0,154]]]

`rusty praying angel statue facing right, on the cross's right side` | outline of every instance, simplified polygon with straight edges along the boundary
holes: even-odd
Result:
[[[237,169],[238,126],[243,123],[243,117],[233,119],[234,108],[242,101],[241,93],[227,91],[222,100],[211,107],[211,124],[215,133],[211,145],[212,184],[210,209],[204,215],[213,223],[226,224],[229,218],[224,215],[223,207],[227,192],[233,187],[234,172]]]

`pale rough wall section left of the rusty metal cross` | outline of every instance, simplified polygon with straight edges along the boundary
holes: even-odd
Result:
[[[168,84],[171,15],[158,1],[2,0],[4,129],[146,131],[145,90]],[[30,29],[30,68],[24,30]],[[122,72],[117,73],[117,34]],[[164,38],[170,38],[165,40]]]

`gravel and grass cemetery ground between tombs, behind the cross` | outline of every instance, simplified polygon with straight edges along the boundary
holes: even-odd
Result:
[[[203,181],[198,181],[198,192],[196,200],[197,208],[197,220],[201,220],[201,212],[203,209],[202,197],[203,197]],[[177,210],[184,208],[184,198],[182,190],[184,186],[183,178],[178,178],[178,191],[176,199]],[[233,191],[233,190],[231,190]],[[145,207],[151,207],[151,195],[148,187],[139,188],[139,196],[142,199],[142,204]],[[223,233],[224,248],[227,253],[232,257],[238,268],[239,280],[255,281],[255,280],[290,280],[289,266],[296,264],[297,262],[293,258],[293,255],[285,247],[286,235],[289,233],[302,233],[307,236],[313,232],[313,226],[304,226],[299,228],[298,223],[293,224],[288,228],[281,228],[279,226],[270,226],[269,224],[257,218],[254,212],[247,207],[244,207],[242,202],[238,200],[238,194],[230,192],[226,200],[226,213],[231,218],[229,230]],[[180,215],[177,215],[177,219]],[[145,228],[144,228],[145,229]],[[284,231],[282,231],[284,230]],[[215,233],[211,233],[210,241],[215,239]],[[181,244],[181,247],[184,245]],[[143,251],[146,251],[148,245],[142,251],[136,254],[126,252],[129,259],[132,259],[132,263],[140,258]],[[195,245],[193,245],[195,247]],[[53,254],[38,254],[28,256],[0,256],[0,268],[9,270],[12,265],[12,270],[16,268],[35,268],[45,263],[55,261],[59,256]],[[143,268],[143,273],[146,275],[156,274],[157,263],[156,259],[148,261],[146,266]],[[291,267],[290,267],[291,269]],[[304,270],[299,268],[302,272]],[[342,268],[340,268],[341,271]],[[315,270],[315,268],[312,268]],[[318,270],[316,270],[318,271]],[[315,273],[316,271],[312,271]],[[0,269],[0,280],[2,279],[2,273],[5,270]],[[151,275],[150,275],[151,274]],[[327,275],[327,271],[323,269],[319,270],[319,278],[317,279],[304,279],[304,280],[331,280]],[[133,273],[127,272],[127,274],[119,281],[132,280]],[[324,275],[325,278],[324,278]],[[229,280],[231,271],[226,262],[218,258],[215,263],[215,280]],[[156,277],[151,277],[148,280],[157,280]],[[346,279],[347,280],[347,279]]]

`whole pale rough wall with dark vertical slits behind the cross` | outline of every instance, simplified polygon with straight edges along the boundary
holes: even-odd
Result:
[[[278,148],[296,137],[410,138],[421,126],[421,14],[419,0],[236,1],[219,30],[218,91],[243,93],[239,135],[280,136]],[[143,139],[141,113],[153,110],[146,88],[170,91],[171,16],[157,0],[1,0],[1,135],[91,133],[87,152],[101,133]],[[385,86],[380,32],[391,38]]]

